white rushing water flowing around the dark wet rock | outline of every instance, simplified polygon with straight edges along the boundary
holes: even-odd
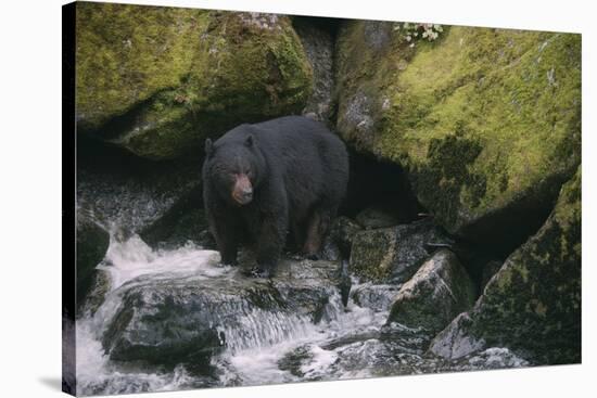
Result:
[[[98,267],[110,275],[110,288],[93,316],[77,321],[78,393],[94,395],[261,385],[414,373],[421,372],[417,367],[423,365],[429,367],[429,371],[439,369],[412,348],[416,346],[412,341],[417,343],[416,331],[408,330],[410,337],[405,337],[402,343],[389,345],[380,337],[380,332],[386,328],[383,325],[389,305],[397,287],[371,284],[353,284],[347,306],[342,304],[340,293],[332,294],[317,324],[292,311],[272,312],[243,307],[237,324],[220,326],[227,346],[212,358],[216,375],[198,376],[183,365],[173,371],[148,370],[132,363],[116,363],[109,358],[101,338],[123,305],[127,290],[160,280],[226,282],[237,270],[223,267],[218,261],[216,252],[193,244],[173,251],[152,251],[137,235],[124,242],[112,239],[107,254]],[[468,359],[469,362],[460,369],[528,364],[504,350],[487,350]]]

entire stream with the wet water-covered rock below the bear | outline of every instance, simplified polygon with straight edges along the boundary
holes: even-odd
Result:
[[[275,280],[255,280],[236,267],[219,265],[217,252],[192,243],[154,251],[137,234],[122,241],[117,235],[111,234],[109,251],[98,266],[109,281],[103,300],[77,320],[80,395],[530,364],[499,347],[453,361],[425,354],[433,336],[424,330],[385,325],[399,286],[359,283],[351,278],[350,294],[343,299],[342,267],[333,261],[287,259]],[[166,303],[167,311],[156,310]],[[123,313],[128,314],[125,321]],[[180,318],[173,316],[176,313]],[[193,318],[195,314],[199,318]],[[148,321],[152,317],[158,322]],[[180,329],[167,326],[179,328],[185,322],[188,324]],[[202,328],[215,331],[215,344],[167,364],[165,356],[177,352],[178,344],[188,339],[190,345],[182,351],[203,344],[193,339],[198,338],[195,330]],[[174,345],[160,350],[164,341]],[[204,341],[213,343],[207,337]],[[139,356],[140,349],[144,351]],[[122,352],[116,355],[118,350]],[[156,360],[151,359],[154,356]]]

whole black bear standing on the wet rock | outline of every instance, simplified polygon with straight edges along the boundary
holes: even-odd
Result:
[[[322,124],[302,116],[241,125],[205,141],[203,200],[221,262],[253,246],[271,277],[289,231],[307,256],[320,248],[346,193],[348,154]]]

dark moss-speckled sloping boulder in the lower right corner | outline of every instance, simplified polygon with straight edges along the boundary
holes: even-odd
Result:
[[[431,351],[461,357],[484,345],[520,350],[537,363],[581,361],[581,169],[541,230],[512,253],[469,314]]]

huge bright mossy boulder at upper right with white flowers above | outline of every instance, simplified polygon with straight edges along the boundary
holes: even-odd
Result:
[[[399,27],[340,30],[339,132],[402,165],[448,232],[516,247],[581,162],[581,36],[454,26],[430,42]]]

